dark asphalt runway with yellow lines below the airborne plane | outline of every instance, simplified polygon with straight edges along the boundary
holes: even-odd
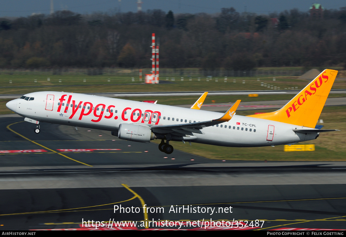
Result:
[[[164,223],[154,222],[155,229],[345,228],[346,162],[166,155],[156,143],[107,131],[42,123],[35,134],[35,125],[22,121],[0,117],[0,231],[88,229],[88,220],[104,221],[103,229],[150,229],[149,220],[159,219]],[[115,205],[128,209],[120,213]],[[210,219],[220,226],[210,227]]]

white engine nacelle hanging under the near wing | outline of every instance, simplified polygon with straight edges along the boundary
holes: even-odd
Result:
[[[118,138],[134,142],[150,142],[155,138],[155,134],[148,127],[132,123],[121,123],[118,133]]]

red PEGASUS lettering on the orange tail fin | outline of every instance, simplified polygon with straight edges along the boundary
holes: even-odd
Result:
[[[299,105],[302,105],[304,102],[306,102],[308,100],[308,98],[309,98],[308,96],[314,95],[317,91],[317,88],[319,88],[322,85],[322,83],[326,83],[328,81],[328,76],[323,75],[325,73],[326,72],[323,72],[322,76],[318,77],[314,82],[311,82],[310,88],[309,88],[310,90],[306,89],[304,92],[302,92],[302,94],[300,94],[298,96],[298,99],[293,102],[292,106],[286,110],[286,114],[287,114],[288,118],[291,116],[290,113],[292,112],[292,110],[293,110],[293,112],[298,110]],[[326,79],[326,80],[322,81],[322,78]],[[314,85],[315,85],[315,87],[314,87]],[[295,98],[297,98],[297,96]]]

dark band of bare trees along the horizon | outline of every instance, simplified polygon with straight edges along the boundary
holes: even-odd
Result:
[[[346,7],[322,17],[297,9],[270,15],[222,8],[217,15],[172,11],[56,11],[0,18],[1,68],[160,67],[247,70],[262,66],[345,66]]]

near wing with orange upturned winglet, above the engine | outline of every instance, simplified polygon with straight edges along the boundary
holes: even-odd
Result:
[[[240,103],[240,100],[236,101],[232,107],[227,110],[227,112],[222,115],[220,118],[196,122],[196,123],[183,123],[183,124],[171,124],[171,125],[153,125],[151,126],[151,130],[153,133],[159,134],[172,134],[175,136],[188,136],[193,135],[192,133],[204,134],[201,129],[204,127],[213,126],[219,123],[228,122],[235,115],[235,111]]]

